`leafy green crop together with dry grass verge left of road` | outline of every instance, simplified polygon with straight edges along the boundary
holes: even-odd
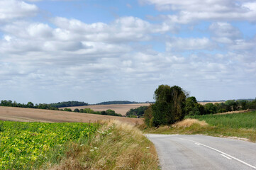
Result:
[[[0,122],[0,169],[157,169],[140,130],[108,123]]]

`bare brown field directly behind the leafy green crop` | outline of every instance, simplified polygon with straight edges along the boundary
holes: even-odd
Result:
[[[95,123],[99,120],[120,120],[130,124],[142,124],[143,119],[124,118],[111,115],[95,115],[89,113],[74,113],[65,111],[50,111],[34,108],[12,108],[0,106],[0,120],[21,122],[83,122]]]

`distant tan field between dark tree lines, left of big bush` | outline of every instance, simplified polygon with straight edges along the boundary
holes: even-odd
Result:
[[[126,112],[130,110],[130,108],[138,108],[140,106],[150,106],[150,103],[138,103],[138,104],[113,104],[113,105],[90,105],[90,106],[74,106],[74,107],[67,107],[71,108],[74,111],[75,108],[91,108],[94,111],[106,111],[111,109],[116,113],[121,115],[126,115]]]

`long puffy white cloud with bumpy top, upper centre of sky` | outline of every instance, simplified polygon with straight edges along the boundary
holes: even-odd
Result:
[[[59,29],[55,31],[58,38],[82,38],[89,41],[104,42],[125,42],[125,41],[143,41],[150,40],[151,33],[166,33],[174,30],[167,23],[154,25],[148,21],[143,21],[136,17],[121,17],[110,23],[92,23],[87,24],[76,19],[53,18],[54,23]]]

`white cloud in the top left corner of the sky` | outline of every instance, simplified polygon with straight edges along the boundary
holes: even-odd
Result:
[[[9,22],[13,19],[34,16],[38,7],[18,0],[0,1],[0,22]]]

